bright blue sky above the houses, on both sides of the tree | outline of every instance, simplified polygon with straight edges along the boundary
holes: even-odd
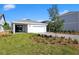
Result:
[[[51,4],[0,4],[0,13],[5,15],[8,22],[21,20],[22,18],[42,21],[49,19],[47,9],[51,6]],[[79,11],[79,5],[59,4],[58,9],[60,14],[68,11]]]

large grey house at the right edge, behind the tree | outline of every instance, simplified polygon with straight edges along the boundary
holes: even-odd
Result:
[[[60,15],[60,18],[64,20],[65,31],[78,31],[79,32],[79,12],[67,12]]]

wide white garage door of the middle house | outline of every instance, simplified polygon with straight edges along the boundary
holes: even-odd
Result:
[[[46,25],[28,25],[29,33],[43,33],[46,32]]]

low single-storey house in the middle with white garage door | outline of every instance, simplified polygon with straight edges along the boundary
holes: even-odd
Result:
[[[32,21],[29,19],[19,20],[12,22],[12,31],[26,32],[26,33],[43,33],[46,32],[47,24]]]

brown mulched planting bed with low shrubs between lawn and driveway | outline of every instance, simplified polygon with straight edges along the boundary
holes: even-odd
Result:
[[[44,43],[44,44],[58,44],[58,45],[72,45],[72,44],[79,44],[79,41],[76,39],[65,38],[65,37],[52,37],[51,35],[45,34],[38,34],[37,36],[33,37],[33,41],[37,43]]]

